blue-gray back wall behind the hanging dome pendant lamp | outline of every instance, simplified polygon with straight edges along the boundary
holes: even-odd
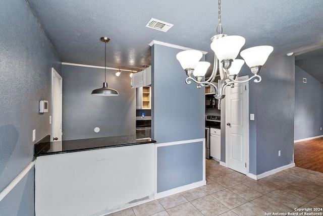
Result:
[[[115,73],[107,70],[106,81],[119,96],[95,96],[104,69],[63,65],[63,140],[136,134],[136,89],[129,72]]]

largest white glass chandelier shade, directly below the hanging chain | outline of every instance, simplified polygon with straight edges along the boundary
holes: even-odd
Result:
[[[245,41],[241,36],[225,36],[214,40],[211,43],[211,49],[216,53],[220,62],[225,59],[235,59]]]

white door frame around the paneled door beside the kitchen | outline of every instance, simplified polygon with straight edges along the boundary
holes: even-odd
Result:
[[[237,77],[236,80],[241,80],[241,79],[249,79],[249,76],[246,75],[246,76],[242,76],[242,77]],[[246,150],[245,150],[245,158],[246,158],[246,175],[248,176],[249,174],[249,82],[246,82],[246,122],[245,122],[245,125],[246,125],[246,136],[245,136],[245,139],[246,139]],[[230,88],[230,86],[228,87]],[[226,89],[226,95],[228,94],[228,90]],[[226,116],[228,115],[228,111],[229,111],[229,107],[228,107],[228,100],[227,100],[228,97],[225,97],[225,101],[226,101]],[[231,107],[230,107],[231,108]],[[226,125],[226,123],[225,123]],[[229,151],[228,151],[228,145],[229,145],[229,139],[228,139],[228,131],[227,129],[226,130],[226,163],[225,163],[225,166],[228,167],[228,158],[229,158]]]

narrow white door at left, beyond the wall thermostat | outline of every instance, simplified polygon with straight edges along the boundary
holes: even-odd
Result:
[[[51,141],[62,141],[62,77],[53,68],[51,74]]]

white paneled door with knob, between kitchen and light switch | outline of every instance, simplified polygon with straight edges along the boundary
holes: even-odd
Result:
[[[246,80],[248,76],[238,80]],[[226,164],[227,167],[247,174],[249,149],[248,83],[235,83],[226,88]]]

